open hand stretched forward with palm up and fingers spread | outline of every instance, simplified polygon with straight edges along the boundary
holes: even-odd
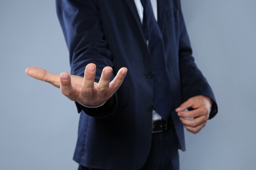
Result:
[[[102,105],[118,90],[127,74],[127,68],[119,69],[114,80],[110,82],[112,68],[104,67],[98,83],[95,82],[96,65],[94,63],[89,63],[85,67],[84,77],[66,72],[55,75],[38,67],[29,67],[26,69],[26,74],[60,88],[61,92],[72,101],[95,107]]]

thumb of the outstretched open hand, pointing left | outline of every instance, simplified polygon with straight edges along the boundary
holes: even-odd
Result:
[[[48,71],[45,71],[44,69],[41,69],[39,67],[28,67],[26,69],[26,74],[32,76],[33,78],[36,78],[37,80],[49,82],[57,88],[60,87],[59,75],[49,73]]]

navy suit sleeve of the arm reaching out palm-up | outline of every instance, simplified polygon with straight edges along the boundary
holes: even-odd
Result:
[[[88,63],[96,64],[95,82],[98,82],[102,69],[113,67],[112,54],[104,39],[100,12],[94,0],[56,0],[56,12],[70,52],[71,74],[84,76]],[[112,79],[114,75],[112,75]],[[75,103],[78,112],[104,117],[112,114],[117,106],[116,95],[97,109],[89,109]]]

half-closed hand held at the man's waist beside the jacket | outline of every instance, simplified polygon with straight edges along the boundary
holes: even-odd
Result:
[[[192,133],[198,133],[206,124],[211,112],[212,101],[209,97],[198,95],[182,103],[176,109],[182,124]],[[191,109],[186,111],[186,109]]]

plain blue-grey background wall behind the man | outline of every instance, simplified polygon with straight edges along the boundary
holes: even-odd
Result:
[[[256,169],[255,0],[182,0],[196,63],[219,114],[197,135],[186,132],[181,170]],[[79,115],[26,67],[69,71],[53,0],[0,1],[0,169],[77,169]]]

